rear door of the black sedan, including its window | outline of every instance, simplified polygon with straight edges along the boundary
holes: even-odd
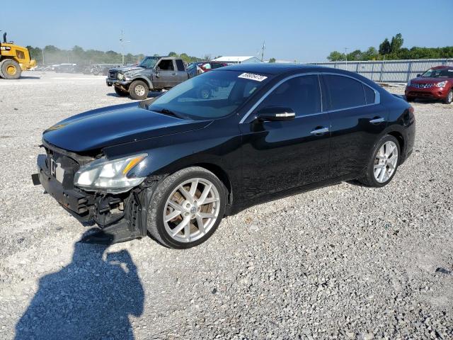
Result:
[[[379,103],[379,92],[362,81],[343,74],[323,74],[321,79],[332,124],[330,176],[361,174],[386,128],[388,112]]]

